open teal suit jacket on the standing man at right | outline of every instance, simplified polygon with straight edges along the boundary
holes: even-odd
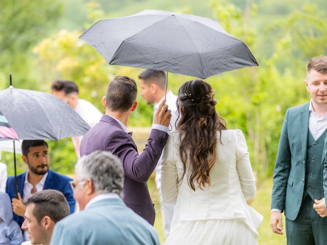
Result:
[[[309,103],[288,109],[278,144],[271,209],[279,209],[282,212],[285,210],[285,216],[290,220],[297,217],[302,202],[306,179],[308,132]],[[323,156],[321,164],[322,160]],[[323,165],[321,169],[322,167]]]

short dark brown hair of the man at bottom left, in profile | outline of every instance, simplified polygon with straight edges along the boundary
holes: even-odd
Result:
[[[40,224],[44,216],[49,216],[55,223],[69,215],[69,205],[64,195],[57,190],[41,190],[29,197],[24,204],[34,203],[33,215]]]

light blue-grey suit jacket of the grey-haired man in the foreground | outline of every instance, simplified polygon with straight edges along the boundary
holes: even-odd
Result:
[[[104,199],[60,220],[51,245],[159,245],[156,230],[121,199]]]

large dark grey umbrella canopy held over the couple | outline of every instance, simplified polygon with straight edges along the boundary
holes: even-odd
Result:
[[[80,36],[109,64],[197,78],[256,66],[248,47],[215,19],[167,11],[100,20]]]

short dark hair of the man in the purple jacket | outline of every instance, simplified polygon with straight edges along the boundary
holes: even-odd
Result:
[[[129,77],[115,77],[108,85],[106,93],[107,107],[112,111],[125,112],[136,101],[137,86]]]

